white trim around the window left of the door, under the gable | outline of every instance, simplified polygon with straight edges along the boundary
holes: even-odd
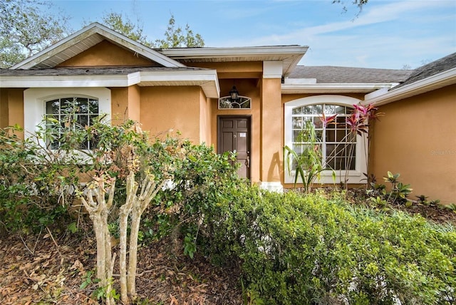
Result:
[[[108,88],[28,88],[24,91],[24,136],[31,137],[46,114],[46,100],[68,96],[98,99],[98,111],[110,122],[111,91]]]

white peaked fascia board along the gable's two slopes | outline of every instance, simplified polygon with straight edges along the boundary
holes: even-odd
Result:
[[[76,33],[63,38],[61,41],[53,44],[52,46],[45,48],[44,50],[36,53],[35,55],[26,58],[24,61],[20,63],[16,63],[16,65],[12,66],[10,69],[28,69],[36,66],[36,64],[40,63],[41,61],[46,60],[52,56],[56,56],[61,51],[70,48],[74,44],[82,41],[83,39],[91,36],[95,33],[108,38],[108,40],[114,41],[115,43],[119,43],[120,45],[124,46],[125,48],[130,49],[131,51],[135,51],[136,53],[149,58],[151,61],[155,61],[157,63],[162,64],[165,67],[185,67],[184,64],[175,61],[172,58],[168,58],[157,51],[152,50],[152,48],[147,48],[147,46],[143,46],[141,43],[137,41],[133,41],[132,39],[123,36],[116,31],[113,31],[106,26],[103,26],[98,23],[90,24],[83,29],[77,31]]]

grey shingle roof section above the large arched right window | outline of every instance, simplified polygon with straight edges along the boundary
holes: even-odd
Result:
[[[296,66],[289,78],[316,78],[317,83],[400,83],[412,72],[413,70]]]

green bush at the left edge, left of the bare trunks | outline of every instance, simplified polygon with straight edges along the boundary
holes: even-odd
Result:
[[[16,131],[20,129],[0,130],[0,229],[28,233],[45,227],[66,228],[71,222],[72,196],[58,189],[71,185],[76,175],[53,160],[36,162],[40,148],[18,138]]]

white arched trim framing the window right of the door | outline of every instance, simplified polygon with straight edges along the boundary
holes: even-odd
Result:
[[[306,98],[299,98],[297,100],[291,100],[288,103],[284,104],[284,145],[289,147],[293,147],[293,126],[292,126],[292,110],[293,108],[305,105],[314,105],[314,104],[331,104],[331,105],[341,105],[341,106],[349,106],[353,107],[353,104],[360,103],[361,100],[357,98],[351,98],[348,96],[343,95],[314,95],[309,96]],[[355,170],[348,171],[348,183],[359,184],[365,183],[365,177],[363,175],[364,172],[367,172],[366,166],[366,150],[365,147],[367,145],[366,136],[357,135],[356,136],[356,162],[355,162]],[[284,182],[285,183],[294,183],[294,175],[295,172],[291,171],[289,173],[286,170],[286,160],[284,156]],[[345,170],[336,171],[336,181],[333,180],[333,172],[331,170],[325,170],[321,172],[320,180],[316,180],[317,183],[328,183],[332,184],[334,182],[340,183],[341,181],[345,180]],[[302,183],[301,179],[298,179],[299,183]]]

